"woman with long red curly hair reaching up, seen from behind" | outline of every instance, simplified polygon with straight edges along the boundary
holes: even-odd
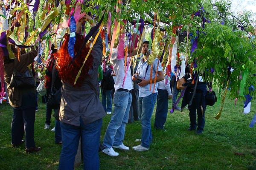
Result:
[[[90,21],[91,26],[96,26],[87,14],[77,22],[74,54],[77,54],[84,42],[84,37],[79,32],[85,19]],[[93,34],[93,39],[98,31]],[[105,116],[105,111],[97,96],[99,91],[98,68],[102,61],[102,38],[98,36],[75,83],[76,75],[78,75],[90,48],[85,45],[78,57],[69,65],[72,60],[68,51],[70,37],[73,37],[71,33],[64,37],[65,40],[60,50],[55,54],[59,77],[63,84],[59,111],[62,133],[59,170],[74,169],[80,137],[84,170],[99,170],[100,130],[102,117]]]

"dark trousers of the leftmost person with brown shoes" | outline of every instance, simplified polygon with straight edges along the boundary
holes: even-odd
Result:
[[[35,107],[13,109],[12,144],[20,144],[25,132],[26,148],[35,147],[34,141]]]

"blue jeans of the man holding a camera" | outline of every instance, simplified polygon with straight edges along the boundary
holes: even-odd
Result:
[[[141,113],[141,146],[149,147],[152,143],[152,133],[151,133],[151,116],[154,110],[154,105],[156,103],[157,93],[150,94],[146,97],[139,97],[138,106],[139,112]]]

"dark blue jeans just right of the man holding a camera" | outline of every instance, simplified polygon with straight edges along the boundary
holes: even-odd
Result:
[[[154,127],[156,129],[163,129],[163,125],[166,122],[167,113],[168,113],[168,92],[166,90],[157,89],[157,109],[156,117],[154,122]]]

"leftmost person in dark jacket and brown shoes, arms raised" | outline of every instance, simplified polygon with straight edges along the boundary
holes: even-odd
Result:
[[[19,51],[15,49],[14,45],[11,46],[11,49],[16,58],[10,59],[9,56],[4,56],[3,62],[9,103],[13,108],[12,146],[19,147],[20,144],[25,142],[26,153],[37,152],[41,150],[41,147],[36,147],[34,141],[36,89],[35,87],[14,88],[10,85],[14,68],[20,73],[26,72],[28,65],[36,60],[37,51],[32,50],[22,54],[19,57],[20,60],[18,60],[17,52]],[[23,140],[24,132],[25,140]]]

